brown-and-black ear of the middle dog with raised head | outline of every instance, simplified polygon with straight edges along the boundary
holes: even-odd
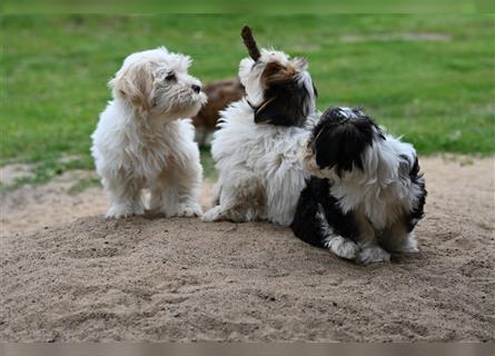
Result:
[[[261,85],[265,101],[255,111],[255,122],[303,126],[308,115],[309,92],[297,79],[295,69],[270,62],[261,75]]]

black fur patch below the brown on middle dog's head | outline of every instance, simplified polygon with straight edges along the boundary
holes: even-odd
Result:
[[[309,115],[310,93],[297,78],[270,83],[264,96],[265,102],[255,110],[256,123],[304,126]]]

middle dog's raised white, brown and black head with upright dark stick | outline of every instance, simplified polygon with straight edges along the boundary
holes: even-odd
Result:
[[[253,41],[247,43],[245,38],[250,57],[240,61],[239,78],[255,109],[255,122],[304,126],[306,117],[316,109],[317,95],[306,60],[291,59],[276,50],[259,51],[254,39],[248,40]]]

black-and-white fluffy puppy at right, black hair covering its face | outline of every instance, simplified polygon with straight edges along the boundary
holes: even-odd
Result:
[[[291,224],[296,236],[363,264],[417,251],[425,179],[410,144],[384,135],[360,110],[329,108],[303,161],[313,175]]]

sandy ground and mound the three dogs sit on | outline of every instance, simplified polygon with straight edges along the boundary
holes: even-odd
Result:
[[[495,159],[423,159],[420,253],[358,266],[274,225],[107,220],[73,175],[2,197],[0,340],[495,340]],[[211,194],[205,185],[204,205]]]

